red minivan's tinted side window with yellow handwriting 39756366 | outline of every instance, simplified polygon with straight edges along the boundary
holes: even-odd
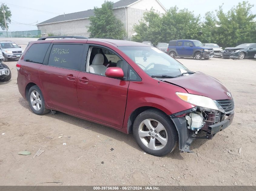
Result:
[[[54,44],[50,52],[48,65],[80,70],[83,52],[84,46],[80,44]]]

